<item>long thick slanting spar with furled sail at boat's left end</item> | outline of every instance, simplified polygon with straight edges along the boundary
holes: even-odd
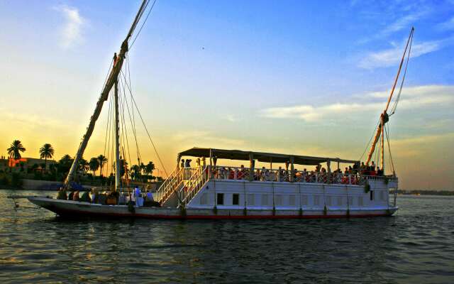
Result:
[[[121,67],[123,67],[123,61],[125,59],[126,53],[128,52],[128,41],[130,40],[131,35],[135,30],[135,26],[137,26],[137,23],[143,14],[143,11],[145,11],[146,6],[148,5],[148,1],[149,0],[143,0],[137,15],[135,15],[133,24],[129,29],[128,35],[126,35],[126,39],[123,40],[123,43],[121,43],[120,53],[118,53],[118,56],[114,55],[114,63],[112,70],[109,73],[108,79],[106,80],[106,84],[104,84],[104,88],[102,89],[101,95],[99,96],[98,102],[96,103],[96,108],[94,109],[94,113],[90,118],[90,123],[89,126],[87,127],[87,131],[85,132],[85,135],[82,137],[82,142],[80,143],[79,149],[77,150],[77,153],[74,156],[74,161],[72,162],[70,172],[68,173],[65,179],[65,187],[70,186],[70,182],[74,178],[74,173],[77,170],[79,160],[82,159],[82,155],[84,155],[84,151],[85,148],[87,148],[88,141],[92,136],[96,120],[98,120],[99,114],[101,114],[104,102],[106,102],[107,98],[109,97],[109,92],[111,92],[112,87],[114,87],[114,84],[118,81],[118,75],[120,74]]]

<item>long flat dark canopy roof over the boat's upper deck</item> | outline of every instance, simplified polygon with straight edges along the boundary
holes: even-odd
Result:
[[[191,148],[187,151],[182,151],[178,154],[178,160],[183,156],[191,157],[205,157],[210,158],[216,156],[218,159],[229,159],[229,160],[250,160],[252,156],[254,160],[259,162],[267,163],[285,163],[293,160],[294,164],[298,165],[319,165],[320,163],[339,162],[339,163],[356,163],[357,160],[345,160],[341,158],[323,158],[323,157],[312,157],[308,155],[288,155],[288,154],[277,154],[277,153],[263,153],[253,151],[240,151],[240,150],[225,150],[225,149],[214,149],[214,148]]]

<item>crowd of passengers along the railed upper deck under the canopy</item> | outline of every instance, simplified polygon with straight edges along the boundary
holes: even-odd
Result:
[[[192,160],[181,160],[181,168],[190,168]],[[252,175],[250,174],[250,168],[245,168],[241,165],[240,168],[236,167],[223,167],[216,166],[217,158],[213,158],[213,167],[211,170],[211,176],[216,179],[223,180],[259,180],[259,181],[279,181],[279,182],[320,182],[320,183],[341,183],[341,184],[358,184],[361,176],[382,176],[384,175],[383,170],[375,165],[372,161],[370,165],[362,163],[354,163],[345,168],[342,172],[341,169],[333,170],[329,172],[326,168],[321,165],[316,165],[314,170],[289,170],[290,162],[285,163],[285,168],[279,167],[277,170],[270,170],[265,167],[256,168]],[[255,160],[252,161],[255,165]],[[205,168],[205,158],[197,158],[196,166]],[[208,170],[208,169],[207,169]],[[208,174],[208,172],[207,172]],[[364,179],[364,178],[362,178]]]

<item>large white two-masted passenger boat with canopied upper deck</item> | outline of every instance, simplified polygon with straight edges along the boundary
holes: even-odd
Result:
[[[118,102],[118,81],[121,75],[124,77],[121,70],[128,53],[128,44],[135,27],[148,7],[148,2],[144,0],[141,4],[118,55],[114,55],[109,76],[90,119],[87,132],[74,157],[63,190],[71,189],[74,176],[77,175],[78,160],[82,158],[96,119],[109,94],[111,98],[113,97],[112,106],[114,107],[112,114],[114,115],[115,184],[94,190],[93,196],[104,198],[79,201],[36,196],[28,197],[30,202],[55,212],[60,217],[72,218],[306,219],[384,217],[397,212],[399,180],[392,157],[389,157],[392,168],[387,169],[389,173],[385,174],[384,138],[387,136],[387,121],[389,116],[394,114],[402,92],[414,28],[411,28],[391,94],[384,111],[380,114],[375,136],[371,138],[370,151],[365,161],[194,147],[178,153],[175,170],[167,175],[162,185],[153,192],[154,203],[151,206],[142,204],[143,192],[133,190],[133,187],[128,185],[128,168],[125,163],[122,163],[122,155],[123,157],[126,155],[120,145],[121,115],[118,109],[121,109],[121,102]],[[405,58],[406,65],[399,94],[394,102],[392,113],[387,114]],[[155,148],[154,144],[153,148]],[[122,155],[121,152],[123,152]],[[376,167],[372,161],[374,153],[380,161],[379,167]],[[196,165],[191,166],[190,162],[193,158],[196,158]],[[245,163],[247,163],[246,166]],[[258,163],[267,167],[260,168]],[[344,166],[347,166],[345,171],[342,170]],[[309,167],[315,167],[315,169],[306,170]],[[126,178],[123,178],[125,173]],[[389,195],[390,190],[394,192],[394,198]],[[110,201],[107,202],[106,199]]]

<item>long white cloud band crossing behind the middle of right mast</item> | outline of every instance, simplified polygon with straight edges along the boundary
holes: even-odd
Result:
[[[272,107],[260,111],[260,115],[272,119],[302,119],[308,122],[351,119],[355,114],[382,111],[389,92],[371,92],[361,97],[351,97],[354,103],[334,103],[323,106],[297,105]],[[397,90],[394,94],[397,94]],[[377,99],[380,98],[380,102]],[[438,105],[448,107],[454,104],[454,86],[427,85],[402,89],[399,109],[418,109]],[[392,104],[391,106],[392,107]]]

